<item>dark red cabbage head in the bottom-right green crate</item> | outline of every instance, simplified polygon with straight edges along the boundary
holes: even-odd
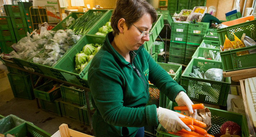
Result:
[[[221,134],[230,134],[230,135],[241,135],[241,127],[233,122],[233,121],[227,121],[224,122],[220,127],[220,133]]]

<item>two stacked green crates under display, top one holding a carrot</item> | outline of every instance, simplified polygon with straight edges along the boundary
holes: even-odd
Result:
[[[57,114],[61,116],[60,113],[60,84],[55,81],[47,81],[46,83],[36,87],[34,89],[35,97],[39,99],[41,108],[44,111]]]

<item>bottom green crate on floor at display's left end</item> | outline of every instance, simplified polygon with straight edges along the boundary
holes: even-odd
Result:
[[[24,84],[10,83],[10,85],[11,85],[14,97],[31,99],[31,100],[35,99],[32,84],[24,85]]]

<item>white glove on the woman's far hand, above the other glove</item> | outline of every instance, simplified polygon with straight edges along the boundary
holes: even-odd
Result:
[[[194,104],[189,97],[187,96],[187,94],[185,92],[179,92],[179,94],[177,95],[177,97],[175,98],[175,102],[177,102],[178,106],[187,106],[188,107],[188,111],[180,111],[180,113],[184,114],[186,116],[192,117],[196,119],[197,116],[197,112],[196,109],[192,109],[192,104]]]

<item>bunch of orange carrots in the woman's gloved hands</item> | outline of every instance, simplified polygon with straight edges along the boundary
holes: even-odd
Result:
[[[193,104],[192,108],[193,109],[203,109],[204,104]],[[177,111],[188,110],[188,108],[186,106],[176,106],[173,109],[177,110]],[[177,113],[179,113],[179,112],[177,112]],[[181,113],[179,113],[179,114],[181,114]],[[180,120],[182,120],[182,122],[184,122],[191,129],[191,131],[181,129],[177,133],[174,133],[174,132],[168,132],[168,133],[174,134],[174,135],[177,135],[180,137],[214,137],[211,134],[208,134],[207,131],[204,129],[204,127],[206,127],[206,124],[204,122],[199,121],[194,118],[191,118],[191,117],[188,117],[184,114],[182,114],[182,115],[185,116],[185,118],[180,118]]]

